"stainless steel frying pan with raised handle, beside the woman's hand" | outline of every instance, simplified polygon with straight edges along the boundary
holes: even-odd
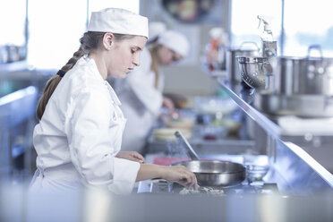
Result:
[[[199,185],[233,186],[241,184],[245,179],[246,168],[242,164],[223,160],[201,160],[181,132],[175,132],[175,137],[184,141],[192,160],[175,162],[171,166],[185,166],[191,170]]]

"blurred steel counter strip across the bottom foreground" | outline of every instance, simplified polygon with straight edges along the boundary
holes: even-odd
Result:
[[[332,221],[333,193],[234,197],[60,192],[30,195],[0,186],[1,221]]]

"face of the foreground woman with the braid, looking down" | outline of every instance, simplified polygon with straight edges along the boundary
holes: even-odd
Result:
[[[107,60],[107,75],[124,79],[134,66],[140,65],[140,55],[147,38],[135,36],[114,40]]]

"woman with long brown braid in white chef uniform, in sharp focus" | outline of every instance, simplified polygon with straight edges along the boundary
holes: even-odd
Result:
[[[148,165],[138,152],[120,151],[126,119],[106,79],[125,78],[139,66],[147,38],[146,17],[117,8],[91,14],[81,47],[39,100],[33,132],[38,169],[30,191],[91,186],[128,194],[135,182],[152,178],[198,187],[185,167]]]

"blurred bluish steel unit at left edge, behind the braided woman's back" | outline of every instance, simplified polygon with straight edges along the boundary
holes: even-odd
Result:
[[[0,180],[30,175],[37,97],[37,88],[30,86],[0,98]]]

